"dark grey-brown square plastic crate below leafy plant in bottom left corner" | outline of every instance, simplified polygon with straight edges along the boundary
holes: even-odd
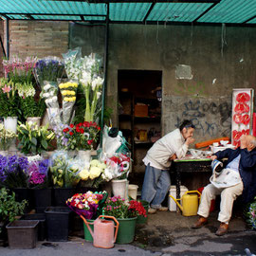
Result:
[[[37,242],[38,220],[16,220],[7,226],[10,248],[34,248]]]

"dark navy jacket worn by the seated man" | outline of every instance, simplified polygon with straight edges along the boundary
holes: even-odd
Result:
[[[244,183],[243,201],[247,203],[256,195],[256,148],[252,151],[240,148],[236,150],[227,149],[218,151],[214,155],[217,155],[218,160],[227,157],[228,162],[224,166],[226,167],[239,154],[241,154],[239,173]]]

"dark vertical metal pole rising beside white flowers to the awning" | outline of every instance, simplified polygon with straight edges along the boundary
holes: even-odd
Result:
[[[105,94],[107,89],[107,67],[108,67],[108,37],[109,37],[109,3],[106,4],[106,28],[105,28],[105,56],[104,56],[104,84],[102,88],[102,107],[101,107],[101,131],[104,125],[104,107],[105,107]],[[101,147],[102,147],[102,132],[101,132]]]

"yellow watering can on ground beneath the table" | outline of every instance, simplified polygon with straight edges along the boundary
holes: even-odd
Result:
[[[171,194],[169,196],[174,199],[174,202],[182,211],[183,216],[194,216],[194,215],[197,215],[197,210],[198,210],[198,195],[195,193],[198,193],[199,195],[201,195],[201,193],[198,191],[190,191],[190,192],[185,192],[182,195],[181,199],[175,199],[174,196]],[[182,200],[182,206],[177,202],[178,200]]]

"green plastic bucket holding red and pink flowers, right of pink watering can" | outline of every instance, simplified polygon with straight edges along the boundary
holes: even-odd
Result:
[[[117,236],[117,244],[129,244],[134,241],[137,217],[128,219],[118,219],[119,231]]]

